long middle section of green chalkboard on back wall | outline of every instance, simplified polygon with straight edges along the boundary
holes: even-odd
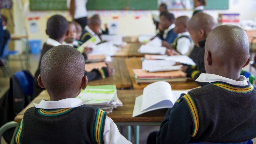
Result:
[[[157,0],[88,0],[88,10],[155,10]]]

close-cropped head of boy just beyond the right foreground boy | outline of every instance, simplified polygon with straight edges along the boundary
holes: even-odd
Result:
[[[203,29],[205,33],[208,33],[215,27],[214,18],[207,13],[197,13],[188,22],[188,29],[198,31]]]

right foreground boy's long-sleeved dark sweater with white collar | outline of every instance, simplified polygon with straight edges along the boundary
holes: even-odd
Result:
[[[244,76],[234,83],[222,78],[202,74],[200,81],[211,84],[181,95],[167,111],[156,142],[239,143],[256,137],[255,85]]]

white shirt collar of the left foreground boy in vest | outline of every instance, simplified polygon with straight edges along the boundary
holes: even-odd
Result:
[[[36,108],[57,109],[57,108],[74,108],[84,105],[90,100],[81,100],[79,98],[67,98],[59,101],[41,100],[39,104],[33,103]]]

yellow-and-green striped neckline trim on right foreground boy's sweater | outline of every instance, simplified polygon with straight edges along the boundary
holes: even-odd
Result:
[[[254,86],[252,84],[248,85],[247,87],[235,87],[235,86],[230,86],[224,83],[211,83],[211,84],[216,85],[220,88],[223,88],[227,91],[236,92],[236,93],[248,93],[254,90]]]

